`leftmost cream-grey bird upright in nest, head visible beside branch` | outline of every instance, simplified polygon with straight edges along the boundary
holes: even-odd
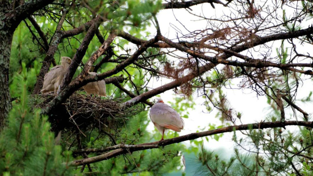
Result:
[[[56,92],[59,85],[62,83],[64,75],[66,73],[69,64],[72,60],[69,57],[61,57],[61,65],[53,67],[46,75],[44,75],[44,85],[40,90],[42,93],[45,92]]]

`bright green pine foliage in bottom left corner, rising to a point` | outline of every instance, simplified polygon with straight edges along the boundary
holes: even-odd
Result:
[[[74,174],[67,164],[70,151],[62,151],[50,132],[47,117],[40,111],[31,112],[28,106],[28,75],[22,63],[22,74],[14,81],[18,98],[10,112],[7,127],[0,134],[1,175],[69,175]],[[31,73],[32,71],[29,71]],[[14,82],[13,81],[13,82]]]

